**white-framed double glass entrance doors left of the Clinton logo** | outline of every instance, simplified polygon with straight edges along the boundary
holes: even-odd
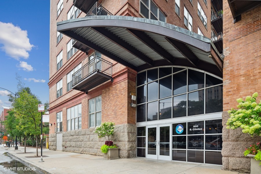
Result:
[[[171,125],[147,126],[147,158],[171,160]]]

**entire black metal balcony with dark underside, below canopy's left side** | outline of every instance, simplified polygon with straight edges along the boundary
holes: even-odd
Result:
[[[88,90],[97,87],[108,80],[113,81],[112,63],[95,56],[73,74],[72,80],[73,89],[83,91],[87,94]]]

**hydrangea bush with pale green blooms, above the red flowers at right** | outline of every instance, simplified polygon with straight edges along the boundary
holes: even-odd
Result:
[[[228,125],[226,128],[240,127],[243,133],[250,134],[252,137],[254,135],[261,136],[261,101],[259,104],[256,103],[257,96],[258,93],[255,92],[252,97],[247,96],[245,101],[242,98],[237,99],[239,109],[232,108],[228,111],[230,118],[226,123]]]

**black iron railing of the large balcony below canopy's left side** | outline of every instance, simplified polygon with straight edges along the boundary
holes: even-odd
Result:
[[[99,71],[106,75],[112,76],[112,63],[98,56],[95,56],[86,65],[81,67],[81,69],[79,69],[72,75],[72,86],[74,86],[95,71]]]

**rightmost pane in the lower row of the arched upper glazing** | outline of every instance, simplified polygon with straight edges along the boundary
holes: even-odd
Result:
[[[206,89],[206,114],[223,111],[223,87]]]

